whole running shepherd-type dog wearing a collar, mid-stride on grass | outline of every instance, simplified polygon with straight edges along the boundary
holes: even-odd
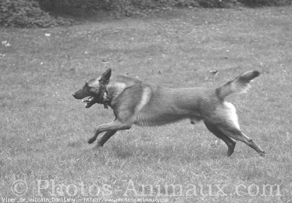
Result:
[[[164,88],[125,76],[111,77],[111,68],[101,76],[88,80],[73,93],[75,99],[84,99],[86,108],[94,103],[110,106],[114,119],[110,123],[98,125],[88,143],[101,136],[94,148],[99,148],[117,131],[139,126],[157,126],[190,119],[192,124],[202,120],[207,129],[222,139],[227,147],[227,156],[234,151],[236,141],[244,142],[261,156],[263,151],[253,139],[243,134],[237,121],[236,109],[224,98],[233,93],[244,93],[249,83],[259,76],[257,70],[246,71],[232,81],[216,89]]]

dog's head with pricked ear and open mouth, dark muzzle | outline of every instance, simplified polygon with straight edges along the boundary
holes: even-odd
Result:
[[[73,93],[73,97],[77,100],[91,97],[90,101],[95,100],[95,102],[98,102],[99,99],[103,97],[105,89],[110,82],[110,75],[111,68],[109,68],[101,76],[86,81],[85,85],[81,89]],[[89,101],[86,100],[86,102]]]

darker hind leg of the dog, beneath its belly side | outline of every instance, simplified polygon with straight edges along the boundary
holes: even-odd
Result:
[[[234,151],[236,141],[231,137],[224,135],[215,125],[211,124],[210,122],[204,120],[204,123],[211,133],[225,142],[225,144],[228,146],[227,156],[230,157]]]

